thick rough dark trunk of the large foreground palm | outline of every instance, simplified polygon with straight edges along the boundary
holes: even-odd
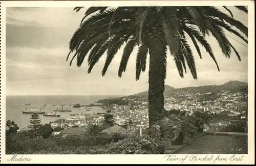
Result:
[[[152,127],[163,118],[164,113],[164,80],[166,75],[166,46],[159,34],[148,42],[150,69],[148,72],[148,119]]]

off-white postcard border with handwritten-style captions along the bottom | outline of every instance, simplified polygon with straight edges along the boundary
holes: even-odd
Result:
[[[166,161],[166,155],[18,155],[31,161],[8,161],[13,155],[5,154],[5,80],[6,80],[6,7],[76,7],[76,6],[248,6],[248,155],[242,161],[216,161],[215,164],[254,164],[254,1],[2,1],[1,2],[1,163],[156,163],[174,164]],[[205,156],[202,154],[201,156]],[[232,155],[207,154],[213,158],[230,158]],[[186,155],[176,155],[184,158]],[[165,157],[165,158],[164,158]],[[189,156],[188,156],[189,157]],[[189,161],[183,163],[206,164],[213,161]]]

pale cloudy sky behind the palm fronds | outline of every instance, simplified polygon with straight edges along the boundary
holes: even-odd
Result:
[[[229,8],[234,18],[248,26],[247,14]],[[87,63],[79,68],[75,63],[69,66],[69,62],[66,62],[69,41],[85,11],[75,12],[73,8],[6,8],[6,95],[132,95],[148,89],[149,55],[146,71],[136,81],[136,49],[121,78],[117,72],[123,47],[104,77],[101,76],[101,70],[106,54],[91,74],[87,73]],[[191,46],[198,79],[194,80],[189,72],[180,78],[173,57],[168,52],[165,84],[182,88],[221,85],[230,80],[247,82],[247,44],[233,34],[227,35],[240,53],[242,61],[238,60],[233,51],[230,59],[225,58],[216,39],[207,38],[219,63],[220,72],[204,48],[200,47],[203,59],[199,59],[196,48]],[[191,41],[188,43],[191,44]]]

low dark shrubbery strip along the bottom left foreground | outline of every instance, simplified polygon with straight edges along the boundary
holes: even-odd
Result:
[[[66,137],[50,138],[50,139],[23,139],[18,135],[10,135],[6,137],[6,153],[7,154],[62,154],[63,151],[95,146],[104,146],[111,143],[111,136],[97,135],[68,135]],[[87,149],[84,150],[84,153]],[[97,152],[100,153],[100,152]],[[73,153],[70,153],[73,154]],[[90,154],[85,153],[85,154]]]

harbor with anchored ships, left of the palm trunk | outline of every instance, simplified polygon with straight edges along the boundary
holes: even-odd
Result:
[[[7,98],[7,118],[15,121],[20,128],[27,128],[31,115],[34,113],[39,115],[41,124],[49,124],[59,119],[65,119],[65,121],[68,119],[67,121],[76,123],[81,114],[90,117],[93,114],[105,113],[105,110],[98,106],[74,108],[73,105],[78,102],[73,101],[73,98],[76,101],[83,100],[84,104],[90,104],[100,99],[101,96],[97,98],[94,96],[12,96]],[[57,109],[61,110],[62,107],[68,109],[69,112],[65,112],[65,110],[54,112]]]

